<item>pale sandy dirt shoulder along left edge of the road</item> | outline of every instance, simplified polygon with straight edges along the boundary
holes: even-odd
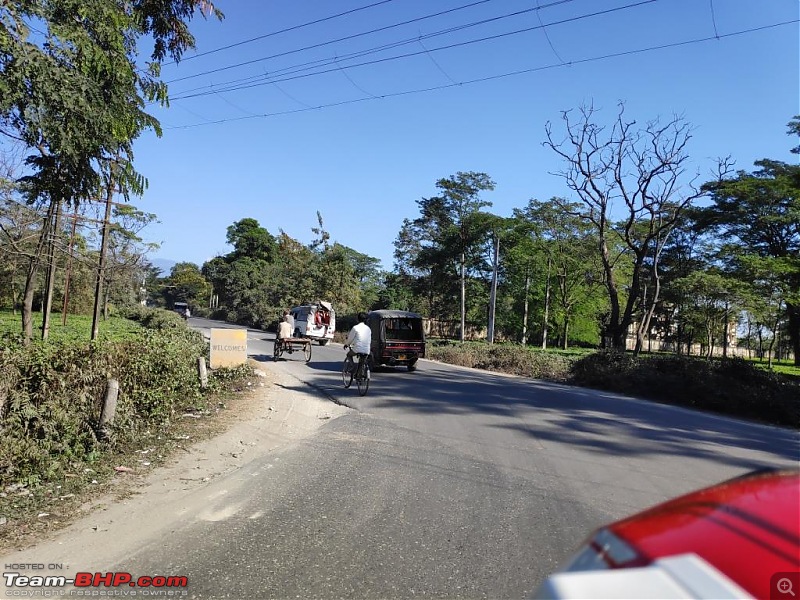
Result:
[[[76,570],[102,570],[145,540],[168,535],[186,519],[216,520],[219,511],[230,514],[236,510],[238,469],[278,453],[351,411],[280,365],[254,366],[261,371],[259,383],[218,417],[221,433],[186,446],[149,473],[119,473],[120,479],[127,478],[120,484],[126,494],[117,489],[97,497],[81,507],[81,516],[64,529],[25,550],[0,554],[4,570],[28,565],[20,572],[64,576]]]

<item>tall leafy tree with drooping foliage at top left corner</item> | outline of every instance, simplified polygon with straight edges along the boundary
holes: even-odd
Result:
[[[160,135],[160,127],[143,107],[166,103],[160,64],[192,47],[187,23],[197,9],[215,11],[205,0],[14,0],[0,9],[0,135],[30,150],[23,192],[49,204],[27,267],[26,339],[34,282],[62,204],[77,207],[102,189],[125,199],[144,189],[133,141],[148,129]],[[137,43],[145,37],[154,46],[141,68]],[[51,264],[50,288],[53,273]]]

